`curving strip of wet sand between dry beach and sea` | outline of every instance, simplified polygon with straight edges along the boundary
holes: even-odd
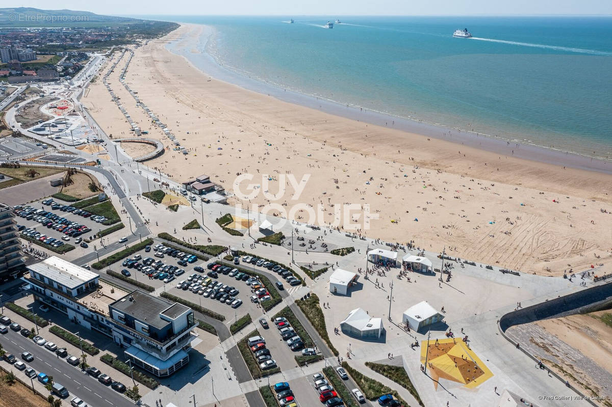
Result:
[[[487,134],[457,130],[436,123],[420,122],[418,120],[406,119],[405,117],[393,116],[383,112],[371,110],[361,111],[360,108],[354,106],[342,105],[337,101],[302,94],[294,90],[286,90],[269,82],[263,82],[259,79],[241,75],[230,68],[218,64],[214,57],[207,51],[207,45],[213,35],[211,26],[193,23],[179,24],[181,24],[181,27],[185,28],[198,26],[201,28],[202,32],[198,35],[196,43],[189,40],[186,45],[178,46],[179,43],[183,42],[187,37],[168,40],[165,43],[166,50],[184,57],[194,68],[203,73],[203,75],[214,78],[215,80],[224,81],[228,84],[241,87],[242,89],[257,92],[261,95],[267,95],[294,105],[315,109],[333,116],[355,120],[360,123],[405,131],[426,138],[449,141],[457,145],[464,145],[465,147],[472,147],[485,152],[512,156],[523,160],[536,161],[539,163],[551,164],[553,166],[570,167],[584,171],[600,172],[602,174],[612,174],[612,160],[606,161],[597,157],[557,150],[551,147],[543,147],[537,144],[525,142],[517,143]],[[194,53],[193,50],[197,50],[198,53]],[[391,122],[392,125],[389,125],[389,122]]]

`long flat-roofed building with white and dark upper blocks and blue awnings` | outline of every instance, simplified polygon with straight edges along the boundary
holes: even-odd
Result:
[[[135,290],[99,281],[99,274],[59,257],[28,266],[24,277],[34,298],[125,347],[132,365],[159,377],[189,362],[193,310]]]

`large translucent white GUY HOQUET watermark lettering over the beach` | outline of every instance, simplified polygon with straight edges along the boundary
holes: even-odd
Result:
[[[305,202],[296,202],[304,193],[304,189],[310,179],[310,174],[302,175],[298,181],[293,174],[278,174],[272,180],[267,174],[257,175],[261,177],[261,183],[257,183],[259,179],[255,179],[253,174],[241,174],[234,180],[233,192],[234,196],[242,202],[251,202],[259,195],[263,196],[268,203],[260,207],[258,204],[251,204],[248,210],[253,213],[261,213],[263,215],[274,215],[278,218],[278,223],[274,225],[275,229],[280,229],[284,226],[288,219],[299,219],[309,225],[326,225],[332,228],[341,227],[344,230],[368,230],[370,229],[370,221],[378,219],[377,213],[371,213],[370,205],[368,204],[335,204],[328,202],[324,204],[307,204]],[[269,190],[271,182],[278,183],[278,191],[272,193]],[[284,203],[280,204],[283,200]],[[294,204],[288,202],[293,201]],[[236,207],[236,215],[243,216],[242,209],[244,204],[239,202]],[[332,218],[332,221],[326,219]]]

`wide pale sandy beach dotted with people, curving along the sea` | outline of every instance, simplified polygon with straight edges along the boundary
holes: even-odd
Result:
[[[108,78],[132,118],[149,131],[147,137],[167,147],[147,166],[179,182],[206,174],[228,192],[239,174],[253,174],[254,184],[263,184],[266,174],[264,180],[271,180],[261,189],[272,194],[283,174],[298,181],[309,174],[299,199],[291,199],[288,186],[271,213],[297,203],[320,205],[324,220],[331,222],[334,204],[368,204],[378,219],[358,233],[414,241],[435,251],[446,248],[454,256],[527,273],[559,275],[610,260],[612,175],[357,122],[219,81],[166,50],[169,41],[196,43],[201,30],[184,25],[137,48],[125,75],[188,155],[173,151],[170,140],[135,106],[118,80],[124,60]],[[129,134],[101,81],[91,84],[82,101],[107,134]],[[144,148],[134,145],[130,155]],[[252,203],[269,201],[260,193]],[[304,210],[295,216],[307,219]]]

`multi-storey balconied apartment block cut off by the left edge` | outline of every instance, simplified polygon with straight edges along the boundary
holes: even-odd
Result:
[[[15,278],[23,266],[13,208],[0,204],[0,281]]]

